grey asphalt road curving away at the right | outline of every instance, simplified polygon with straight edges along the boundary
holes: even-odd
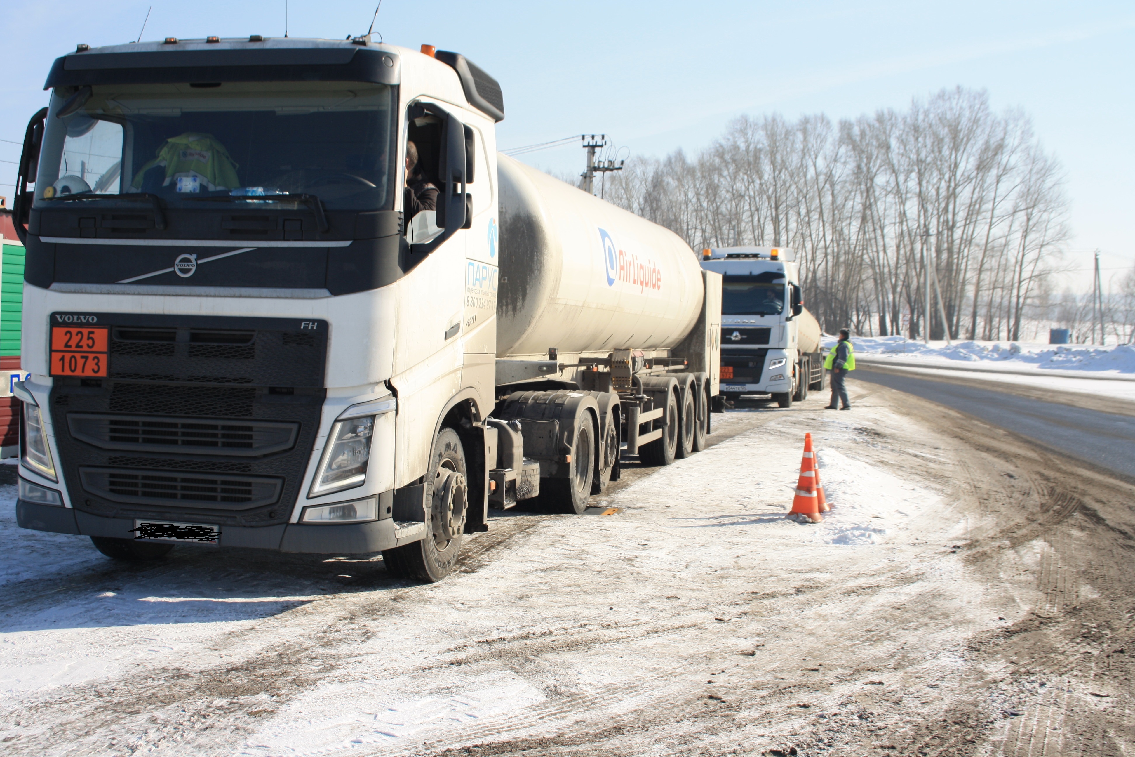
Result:
[[[871,381],[938,402],[1100,468],[1135,478],[1135,418],[1007,392],[858,368]]]

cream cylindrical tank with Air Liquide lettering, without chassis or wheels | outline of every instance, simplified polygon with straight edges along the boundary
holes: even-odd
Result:
[[[673,347],[704,297],[673,232],[497,155],[497,356]]]

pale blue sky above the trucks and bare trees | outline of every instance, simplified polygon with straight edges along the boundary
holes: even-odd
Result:
[[[365,32],[371,0],[286,0],[289,34]],[[0,3],[0,140],[19,142],[51,61],[78,42],[281,35],[285,0]],[[1135,263],[1135,5],[1130,2],[454,2],[384,0],[387,42],[465,53],[496,76],[502,148],[604,132],[623,154],[696,152],[739,113],[854,117],[942,87],[1032,115],[1062,161],[1069,258],[1104,278]],[[0,161],[19,146],[0,142]],[[577,171],[578,146],[526,158]],[[11,196],[15,165],[0,162]],[[1087,272],[1077,275],[1088,286]]]

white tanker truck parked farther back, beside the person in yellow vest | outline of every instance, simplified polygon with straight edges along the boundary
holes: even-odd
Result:
[[[824,388],[819,323],[804,306],[792,250],[706,249],[701,268],[724,277],[718,403],[770,395],[791,407]]]

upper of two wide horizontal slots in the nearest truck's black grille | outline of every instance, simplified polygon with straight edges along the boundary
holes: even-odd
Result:
[[[291,449],[299,423],[68,413],[72,436],[100,449],[259,456]]]

